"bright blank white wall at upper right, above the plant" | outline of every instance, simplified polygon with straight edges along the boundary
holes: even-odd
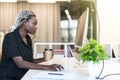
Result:
[[[100,42],[120,43],[120,0],[97,0]]]

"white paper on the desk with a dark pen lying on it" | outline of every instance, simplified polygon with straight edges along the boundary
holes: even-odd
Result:
[[[74,80],[75,73],[43,71],[32,77],[32,80]]]

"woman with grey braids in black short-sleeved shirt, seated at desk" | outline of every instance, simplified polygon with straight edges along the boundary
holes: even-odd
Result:
[[[37,18],[32,11],[19,13],[12,32],[6,34],[0,63],[0,80],[20,80],[28,69],[62,69],[59,64],[38,65],[44,58],[33,59],[32,41],[28,34],[35,34]]]

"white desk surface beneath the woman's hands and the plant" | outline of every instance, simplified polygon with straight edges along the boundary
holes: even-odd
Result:
[[[62,57],[54,58],[51,61],[43,62],[41,64],[49,65],[53,63],[61,64],[64,66],[65,70],[61,71],[62,73],[74,74],[73,80],[95,80],[95,79],[90,78],[86,65],[77,64],[74,58],[62,58]],[[30,69],[23,76],[21,80],[41,80],[41,79],[33,79],[33,77],[43,72],[45,71]],[[120,73],[120,63],[116,62],[116,60],[105,61],[105,68],[104,68],[104,71],[101,77],[107,74],[111,74],[111,73]],[[120,75],[108,76],[103,80],[120,80]]]

